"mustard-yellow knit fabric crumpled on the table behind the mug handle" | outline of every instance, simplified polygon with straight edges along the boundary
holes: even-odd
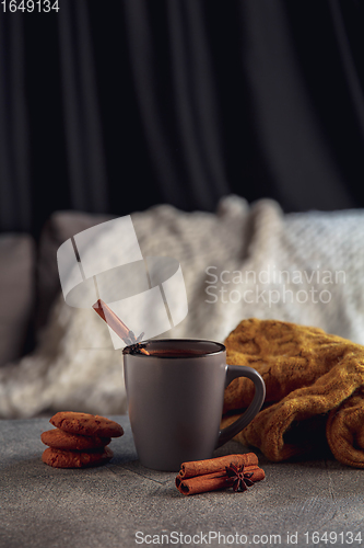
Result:
[[[275,320],[244,320],[225,341],[227,363],[248,365],[265,379],[263,409],[236,439],[280,461],[315,449],[326,437],[333,456],[364,468],[364,346],[321,329]],[[225,390],[222,425],[254,397],[235,379]]]

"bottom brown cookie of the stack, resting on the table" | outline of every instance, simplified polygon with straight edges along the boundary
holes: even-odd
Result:
[[[42,455],[42,460],[54,468],[87,468],[108,463],[114,454],[109,447],[94,453],[61,450],[48,447]]]

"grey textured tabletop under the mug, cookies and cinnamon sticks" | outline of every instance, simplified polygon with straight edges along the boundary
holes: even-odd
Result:
[[[83,470],[43,464],[48,419],[0,421],[1,548],[364,545],[364,470],[260,455],[267,478],[248,492],[184,496],[175,473],[139,464],[128,418],[114,419],[114,459]],[[246,450],[231,442],[215,456]]]

